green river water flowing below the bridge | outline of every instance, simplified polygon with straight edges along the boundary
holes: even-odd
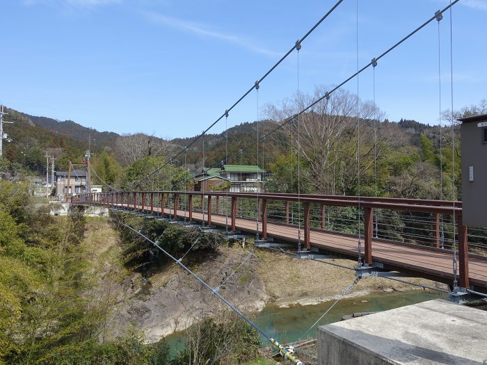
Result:
[[[446,299],[442,293],[424,290],[373,293],[357,298],[346,298],[340,300],[317,326],[340,321],[342,316],[346,314],[385,311],[436,298]],[[253,318],[253,321],[278,342],[289,343],[301,339],[333,302],[335,300],[318,305],[292,305],[288,308],[269,304]],[[316,327],[305,338],[316,337]],[[171,353],[182,350],[184,348],[184,332],[175,332],[166,336],[166,343],[170,346]],[[269,346],[269,342],[265,339],[263,339],[263,343],[264,346]]]

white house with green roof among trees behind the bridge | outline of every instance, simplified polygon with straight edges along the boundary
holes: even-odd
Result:
[[[222,168],[205,169],[195,178],[221,177],[230,181],[231,193],[262,193],[267,176],[267,171],[257,165],[223,165]]]

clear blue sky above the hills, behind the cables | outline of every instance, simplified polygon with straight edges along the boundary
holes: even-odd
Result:
[[[193,136],[273,65],[335,0],[2,0],[0,103],[118,133]],[[359,0],[358,62],[419,26],[445,0]],[[356,0],[344,0],[303,42],[302,92],[356,71]],[[487,0],[453,8],[454,108],[487,97]],[[450,105],[449,15],[440,22],[442,106]],[[259,104],[297,89],[294,52],[262,84]],[[372,99],[372,67],[359,77]],[[356,92],[355,80],[346,86]],[[376,102],[390,120],[438,123],[438,24],[376,67]],[[257,118],[255,92],[228,125]],[[221,132],[225,122],[212,129]]]

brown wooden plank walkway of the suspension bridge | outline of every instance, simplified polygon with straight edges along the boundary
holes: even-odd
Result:
[[[154,211],[160,209],[154,208]],[[167,213],[167,209],[166,209]],[[189,212],[178,210],[179,218],[188,218]],[[205,220],[207,215],[205,214]],[[200,212],[193,211],[193,220],[202,222],[203,216]],[[230,227],[230,216],[211,213],[211,222],[218,227]],[[236,219],[236,228],[241,232],[255,234],[256,222],[246,218]],[[262,234],[262,222],[259,222],[260,234]],[[267,234],[277,242],[296,243],[298,242],[298,227],[268,222]],[[304,231],[301,229],[301,238]],[[358,258],[358,238],[357,236],[337,234],[319,229],[311,229],[310,241],[312,247],[320,248],[329,252],[341,254],[350,259]],[[402,272],[417,273],[418,276],[430,278],[445,284],[452,284],[453,281],[453,253],[450,250],[438,250],[436,248],[426,248],[420,245],[410,245],[399,242],[373,240],[374,263],[382,263],[385,267]],[[362,244],[362,255],[364,252]],[[474,289],[487,290],[487,257],[477,255],[469,256],[470,284]]]

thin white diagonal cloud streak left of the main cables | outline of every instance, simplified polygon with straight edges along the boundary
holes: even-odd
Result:
[[[248,49],[249,51],[253,51],[258,54],[265,54],[266,56],[278,55],[277,52],[273,52],[273,51],[269,51],[268,49],[257,47],[250,40],[246,40],[245,38],[238,37],[237,35],[230,35],[230,34],[220,33],[217,31],[212,31],[208,29],[208,27],[205,26],[204,24],[196,24],[182,19],[167,17],[166,15],[162,15],[154,12],[144,12],[143,14],[145,15],[145,17],[147,17],[147,19],[149,19],[151,22],[154,22],[156,24],[162,24],[164,26],[168,26],[173,29],[179,29],[180,31],[193,33],[203,38],[215,38],[217,40],[222,40],[223,42],[235,44],[239,47],[243,47],[245,49]]]

